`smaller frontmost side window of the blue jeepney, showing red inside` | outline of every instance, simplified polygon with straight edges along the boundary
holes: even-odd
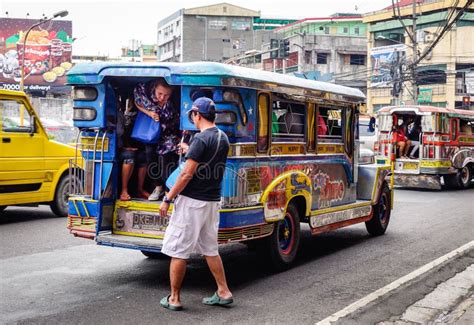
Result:
[[[342,108],[318,106],[318,141],[342,142]]]

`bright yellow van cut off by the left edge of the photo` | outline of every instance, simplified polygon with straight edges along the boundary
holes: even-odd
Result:
[[[75,155],[73,147],[48,139],[25,93],[0,89],[0,212],[9,205],[49,204],[67,216]]]

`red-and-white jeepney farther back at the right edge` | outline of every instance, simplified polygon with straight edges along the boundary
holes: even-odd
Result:
[[[416,156],[400,158],[394,126],[418,121],[421,132]],[[408,125],[408,129],[412,125]],[[469,187],[474,171],[474,111],[432,106],[390,106],[378,111],[379,163],[395,159],[395,183],[405,187],[441,189]],[[411,149],[410,149],[411,150]]]

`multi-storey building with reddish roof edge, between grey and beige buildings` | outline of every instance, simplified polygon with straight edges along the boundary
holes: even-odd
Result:
[[[306,18],[274,30],[289,41],[289,55],[272,59],[270,44],[263,69],[295,73],[308,79],[335,82],[365,91],[367,71],[366,26],[357,14]]]

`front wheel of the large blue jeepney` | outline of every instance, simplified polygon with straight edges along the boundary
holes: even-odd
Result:
[[[365,223],[367,231],[372,236],[380,236],[385,233],[390,222],[391,212],[391,195],[390,189],[387,183],[383,183],[382,192],[380,193],[379,200],[374,205],[374,213],[372,218]]]

